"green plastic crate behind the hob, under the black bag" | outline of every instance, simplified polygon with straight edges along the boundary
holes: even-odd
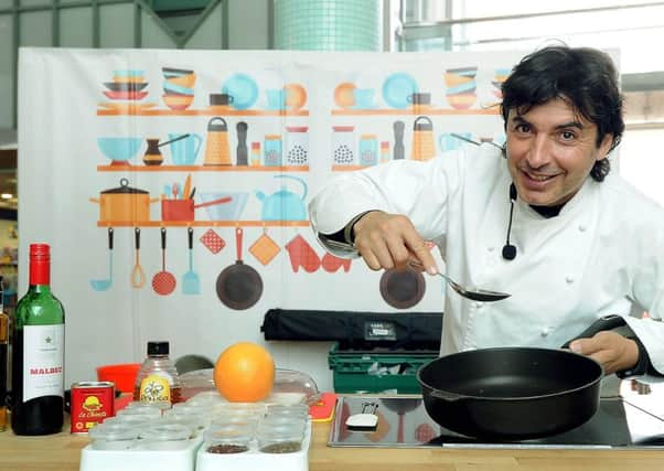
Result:
[[[328,355],[335,393],[420,394],[416,373],[438,357],[431,350],[342,350],[335,343]]]

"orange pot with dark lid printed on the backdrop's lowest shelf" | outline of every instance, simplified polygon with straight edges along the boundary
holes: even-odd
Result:
[[[131,188],[129,181],[122,179],[120,186],[105,190],[99,199],[89,201],[99,204],[99,222],[118,224],[150,221],[150,204],[159,199],[151,199],[148,191]]]

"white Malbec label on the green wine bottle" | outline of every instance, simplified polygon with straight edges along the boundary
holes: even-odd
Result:
[[[23,402],[64,397],[64,324],[23,327]]]

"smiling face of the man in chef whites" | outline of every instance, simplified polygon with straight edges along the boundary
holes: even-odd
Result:
[[[520,115],[511,109],[507,167],[518,196],[528,204],[555,206],[581,188],[596,161],[606,159],[612,136],[597,147],[597,126],[561,98]]]

